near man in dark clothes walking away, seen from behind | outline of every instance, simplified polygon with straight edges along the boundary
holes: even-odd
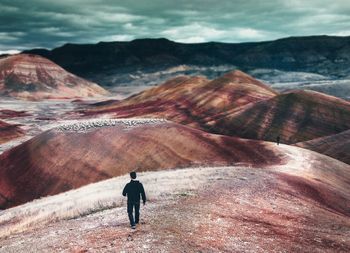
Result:
[[[131,181],[127,183],[123,190],[123,196],[128,196],[128,215],[130,226],[132,229],[136,228],[136,224],[140,220],[140,195],[142,196],[143,204],[146,204],[146,194],[143,185],[136,180],[136,172],[130,173]],[[133,216],[133,209],[135,209],[135,219]]]

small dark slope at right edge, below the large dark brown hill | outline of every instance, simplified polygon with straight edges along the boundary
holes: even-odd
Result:
[[[350,164],[350,130],[306,142],[298,142],[295,145]]]

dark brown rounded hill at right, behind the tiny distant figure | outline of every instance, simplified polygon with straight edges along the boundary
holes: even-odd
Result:
[[[350,129],[350,103],[315,91],[291,91],[218,119],[214,131],[292,144]]]

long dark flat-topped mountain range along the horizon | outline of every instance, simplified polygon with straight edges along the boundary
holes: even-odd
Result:
[[[167,39],[138,39],[66,44],[53,50],[33,49],[26,53],[44,56],[74,74],[105,86],[130,83],[134,80],[130,73],[137,75],[141,71],[142,76],[145,72],[154,73],[180,65],[191,66],[182,74],[197,71],[207,76],[226,72],[227,69],[221,70],[223,66],[231,69],[235,66],[244,71],[259,68],[302,71],[331,78],[350,76],[350,37],[290,37],[236,44],[183,44]],[[213,69],[213,66],[221,68]]]

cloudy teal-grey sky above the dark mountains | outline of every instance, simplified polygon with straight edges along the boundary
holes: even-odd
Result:
[[[249,42],[350,35],[349,0],[0,0],[0,54],[168,38]]]

